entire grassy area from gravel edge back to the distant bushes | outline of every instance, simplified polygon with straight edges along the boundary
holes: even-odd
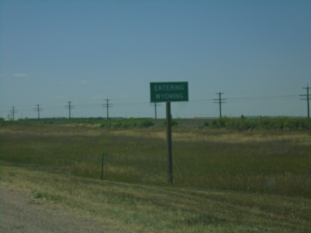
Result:
[[[308,130],[0,127],[2,185],[130,232],[310,232]],[[101,162],[104,153],[104,173]]]

